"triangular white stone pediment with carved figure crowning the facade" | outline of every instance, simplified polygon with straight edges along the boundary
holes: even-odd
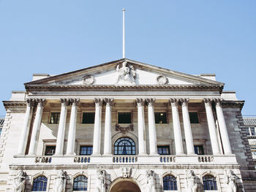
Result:
[[[218,85],[222,82],[184,74],[127,58],[75,72],[46,77],[25,85]]]

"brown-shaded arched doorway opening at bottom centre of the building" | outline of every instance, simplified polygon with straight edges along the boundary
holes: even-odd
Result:
[[[117,180],[110,186],[110,192],[141,192],[133,180]]]

